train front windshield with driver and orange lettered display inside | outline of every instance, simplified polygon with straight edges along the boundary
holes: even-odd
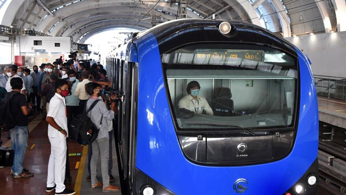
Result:
[[[179,131],[294,125],[297,60],[260,45],[194,44],[162,54]]]

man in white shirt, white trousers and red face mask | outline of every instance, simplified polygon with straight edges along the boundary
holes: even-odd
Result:
[[[49,111],[46,121],[48,122],[48,138],[51,142],[51,156],[48,162],[47,189],[56,195],[72,195],[76,192],[67,189],[64,185],[66,167],[66,137],[67,111],[65,97],[69,95],[69,86],[66,80],[55,81],[55,95],[49,101]]]

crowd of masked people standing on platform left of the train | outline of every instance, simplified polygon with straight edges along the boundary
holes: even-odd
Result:
[[[75,60],[75,59],[74,59]],[[74,64],[41,64],[30,69],[12,65],[5,67],[0,76],[0,99],[10,99],[10,115],[15,126],[9,130],[12,149],[15,152],[11,175],[14,178],[33,177],[34,173],[23,167],[28,140],[28,118],[33,110],[42,114],[48,123],[48,139],[51,154],[48,162],[46,192],[72,195],[75,192],[64,185],[66,166],[66,138],[69,126],[83,109],[95,106],[88,113],[95,126],[100,127],[97,139],[88,145],[87,181],[91,188],[102,187],[103,192],[115,192],[119,187],[110,185],[115,181],[112,176],[112,135],[113,119],[118,108],[111,99],[104,100],[104,88],[111,86],[107,71],[101,64],[91,66]],[[9,98],[10,96],[10,98]],[[112,95],[110,98],[116,98]],[[102,183],[96,178],[97,159],[101,158]]]

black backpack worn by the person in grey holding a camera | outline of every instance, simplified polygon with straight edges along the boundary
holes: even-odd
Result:
[[[73,141],[76,141],[82,145],[88,145],[91,144],[99,135],[99,128],[97,128],[91,119],[87,116],[87,114],[95,107],[95,105],[100,100],[95,100],[88,111],[85,110],[85,106],[83,109],[83,113],[77,115],[74,117],[71,121],[70,128],[69,128],[69,138]],[[85,112],[86,111],[86,112]],[[101,124],[102,124],[102,117],[101,117]],[[89,130],[92,130],[91,134],[88,133]]]

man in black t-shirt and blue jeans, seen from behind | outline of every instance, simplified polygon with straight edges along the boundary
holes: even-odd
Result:
[[[20,93],[23,88],[23,80],[21,78],[12,78],[10,81],[12,91],[6,95],[11,96],[9,114],[12,115],[15,127],[10,129],[10,137],[12,142],[12,149],[15,152],[15,158],[11,169],[11,175],[14,178],[33,177],[34,174],[30,173],[23,167],[24,155],[28,147],[28,114],[32,106],[27,105],[25,96]]]

